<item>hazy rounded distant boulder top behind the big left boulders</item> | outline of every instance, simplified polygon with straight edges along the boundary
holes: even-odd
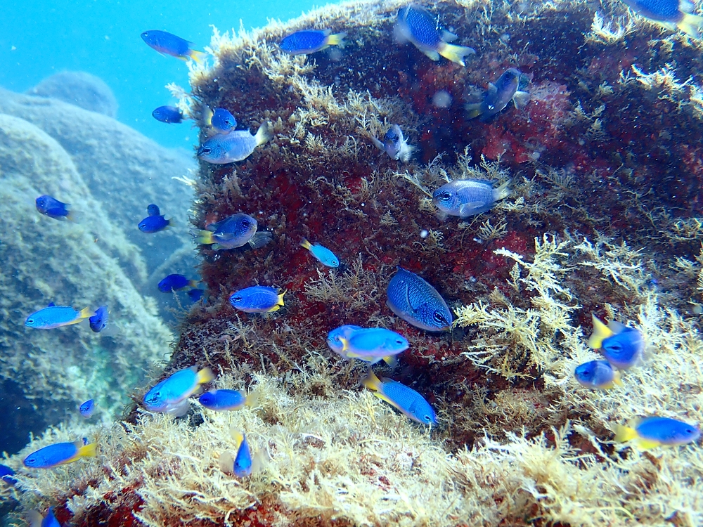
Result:
[[[63,100],[84,110],[117,116],[117,99],[103,79],[86,72],[58,72],[27,90],[33,96]]]

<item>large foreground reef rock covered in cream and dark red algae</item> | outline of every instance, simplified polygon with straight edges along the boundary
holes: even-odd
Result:
[[[257,403],[226,414],[194,404],[179,419],[137,406],[83,429],[98,458],[21,471],[5,494],[23,509],[54,505],[77,525],[703,521],[699,445],[643,453],[612,434],[641,415],[703,421],[703,45],[610,2],[433,4],[456,44],[477,52],[461,67],[394,41],[401,5],[340,4],[215,32],[213,64],[193,65],[183,109],[228,108],[252,131],[269,123],[273,140],[238,164],[200,164],[193,225],[246,212],[273,242],[199,249],[207,301],[183,321],[161,378],[207,365],[215,386]],[[308,27],[349,43],[296,57],[276,47]],[[527,108],[468,119],[465,105],[508,67],[531,75]],[[408,164],[371,141],[391,124],[417,147]],[[510,179],[512,195],[441,220],[431,193],[456,178]],[[340,269],[320,266],[303,237],[333,249]],[[399,265],[449,302],[451,333],[415,330],[385,306]],[[229,295],[256,283],[288,289],[285,308],[233,311]],[[587,391],[573,379],[596,356],[591,313],[645,336],[623,387]],[[365,367],[325,344],[341,324],[406,335],[400,365],[379,370],[420,391],[438,427],[360,388]],[[248,479],[218,467],[231,427],[260,459]],[[76,437],[53,429],[22,454]]]

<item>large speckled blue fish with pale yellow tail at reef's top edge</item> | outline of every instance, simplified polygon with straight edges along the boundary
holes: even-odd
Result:
[[[476,53],[472,48],[448,44],[448,40],[457,38],[456,34],[441,27],[439,16],[434,16],[427,9],[413,4],[399,9],[394,34],[397,41],[412,42],[432,60],[439,60],[441,55],[463,66],[464,57]]]

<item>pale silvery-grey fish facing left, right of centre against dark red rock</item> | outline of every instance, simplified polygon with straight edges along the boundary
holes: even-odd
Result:
[[[491,209],[496,201],[508,197],[510,181],[494,188],[496,181],[457,179],[442,185],[432,193],[432,203],[450,216],[474,216]]]

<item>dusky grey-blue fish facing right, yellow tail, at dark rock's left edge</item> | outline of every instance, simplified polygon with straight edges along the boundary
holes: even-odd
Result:
[[[273,235],[267,231],[257,232],[259,223],[256,219],[238,212],[228,218],[211,223],[207,230],[195,230],[195,241],[203,245],[212,245],[214,251],[220,249],[235,249],[249,244],[252,249],[264,247],[273,239]]]

